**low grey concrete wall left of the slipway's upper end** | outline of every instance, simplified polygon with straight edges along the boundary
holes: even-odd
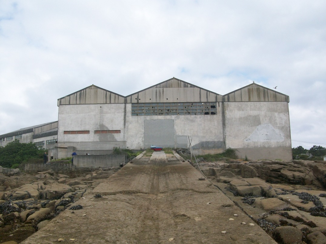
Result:
[[[126,156],[124,154],[75,155],[73,164],[76,167],[111,168],[120,166],[125,161]]]

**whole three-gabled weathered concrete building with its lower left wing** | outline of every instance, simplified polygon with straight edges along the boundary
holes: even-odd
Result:
[[[224,96],[174,77],[126,97],[91,85],[58,99],[58,121],[25,129],[54,159],[114,147],[188,148],[190,139],[197,154],[230,147],[240,158],[291,160],[288,103],[289,96],[256,83]]]

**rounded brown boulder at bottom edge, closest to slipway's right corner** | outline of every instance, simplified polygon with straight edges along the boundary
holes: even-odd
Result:
[[[302,243],[303,234],[301,230],[292,226],[276,227],[273,231],[273,237],[276,241],[284,244]]]

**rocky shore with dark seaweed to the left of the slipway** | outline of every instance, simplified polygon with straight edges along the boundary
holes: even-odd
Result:
[[[0,243],[20,243],[119,169],[94,169],[78,178],[53,170],[0,173]]]

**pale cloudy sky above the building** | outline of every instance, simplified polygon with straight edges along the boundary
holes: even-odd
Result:
[[[0,134],[58,120],[92,84],[130,95],[176,77],[290,97],[292,147],[326,147],[324,0],[0,0]]]

